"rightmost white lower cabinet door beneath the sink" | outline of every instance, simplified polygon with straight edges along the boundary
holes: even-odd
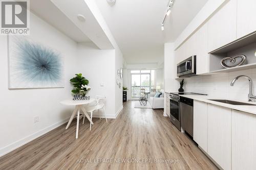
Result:
[[[256,115],[232,110],[232,170],[256,168]]]

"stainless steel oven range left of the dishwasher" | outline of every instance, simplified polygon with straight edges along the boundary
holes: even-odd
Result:
[[[180,96],[175,94],[169,95],[170,100],[170,122],[172,122],[179,130],[180,127]]]

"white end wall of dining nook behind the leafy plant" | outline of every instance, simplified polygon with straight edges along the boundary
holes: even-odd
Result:
[[[89,80],[88,95],[106,96],[106,116],[115,118],[115,50],[99,50],[93,43],[78,43],[78,72]],[[103,86],[101,86],[103,85]]]

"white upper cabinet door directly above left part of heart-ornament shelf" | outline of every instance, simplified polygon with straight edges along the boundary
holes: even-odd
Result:
[[[236,38],[237,0],[229,0],[208,20],[208,50],[214,51]]]

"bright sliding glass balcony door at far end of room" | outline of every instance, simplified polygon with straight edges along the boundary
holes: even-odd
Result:
[[[132,98],[140,97],[140,89],[145,89],[145,92],[151,91],[151,71],[131,70]]]

